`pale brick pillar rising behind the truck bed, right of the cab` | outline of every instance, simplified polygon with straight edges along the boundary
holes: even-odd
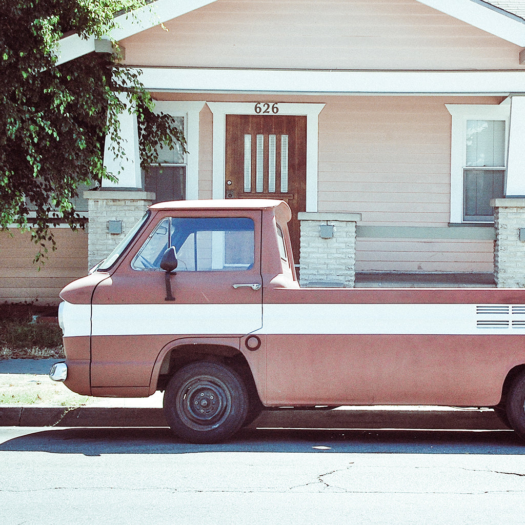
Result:
[[[304,212],[298,218],[301,286],[353,288],[355,227],[361,214]]]

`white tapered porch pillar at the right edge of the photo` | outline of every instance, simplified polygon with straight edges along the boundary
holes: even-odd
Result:
[[[525,196],[525,97],[512,96],[506,197]]]

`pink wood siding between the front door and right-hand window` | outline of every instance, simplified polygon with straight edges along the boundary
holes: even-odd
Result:
[[[333,97],[319,116],[319,210],[446,226],[453,97]],[[460,99],[498,103],[501,99]]]

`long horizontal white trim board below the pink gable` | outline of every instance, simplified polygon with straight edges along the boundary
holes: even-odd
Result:
[[[497,95],[525,93],[523,71],[326,71],[138,68],[151,91],[301,95]]]

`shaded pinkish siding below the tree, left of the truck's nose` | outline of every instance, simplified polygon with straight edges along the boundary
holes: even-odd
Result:
[[[88,234],[57,228],[53,234],[57,250],[49,250],[48,259],[38,271],[33,264],[36,246],[30,235],[10,230],[0,233],[0,302],[37,301],[58,304],[58,293],[67,283],[88,272]]]

